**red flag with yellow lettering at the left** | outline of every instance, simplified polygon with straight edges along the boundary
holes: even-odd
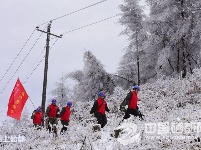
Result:
[[[27,99],[28,95],[18,78],[9,99],[7,116],[20,120]]]

